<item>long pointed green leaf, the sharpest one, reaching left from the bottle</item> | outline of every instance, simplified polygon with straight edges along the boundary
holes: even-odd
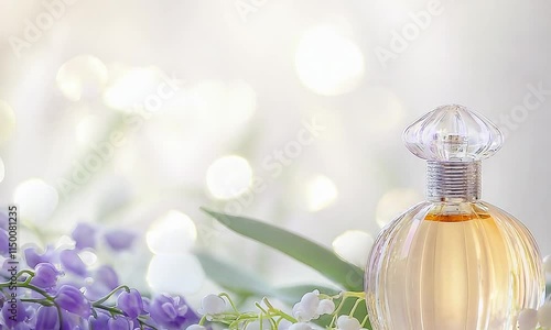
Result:
[[[230,230],[311,266],[347,290],[360,292],[364,288],[364,271],[342,260],[325,246],[258,220],[219,213],[206,208],[202,210]]]

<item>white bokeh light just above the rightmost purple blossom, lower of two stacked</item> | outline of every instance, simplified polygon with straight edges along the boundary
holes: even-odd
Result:
[[[159,254],[151,258],[147,280],[158,293],[191,295],[205,282],[205,272],[192,254]]]

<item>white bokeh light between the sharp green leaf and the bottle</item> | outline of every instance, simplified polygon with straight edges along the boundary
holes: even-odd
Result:
[[[347,230],[333,241],[333,250],[338,256],[361,268],[366,266],[374,238],[360,230]]]

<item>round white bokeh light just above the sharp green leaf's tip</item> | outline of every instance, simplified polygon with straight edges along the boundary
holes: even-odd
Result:
[[[216,160],[207,169],[208,191],[218,199],[244,194],[252,183],[252,168],[244,157],[230,155]]]

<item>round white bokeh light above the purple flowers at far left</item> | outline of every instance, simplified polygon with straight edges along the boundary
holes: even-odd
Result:
[[[19,205],[21,218],[34,222],[43,222],[57,208],[57,190],[40,178],[31,178],[19,184],[13,194]]]

